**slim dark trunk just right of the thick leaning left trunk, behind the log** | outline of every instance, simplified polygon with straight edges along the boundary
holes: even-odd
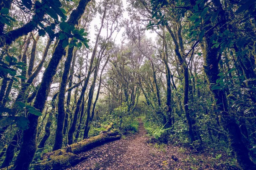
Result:
[[[57,127],[56,127],[56,133],[55,133],[55,142],[52,150],[58,150],[58,149],[61,149],[62,147],[63,127],[64,127],[64,119],[65,119],[65,107],[64,107],[65,93],[66,93],[68,75],[70,71],[70,65],[73,58],[73,50],[74,50],[74,47],[68,48],[67,59],[64,64],[64,71],[61,79],[61,87],[58,95],[58,118],[57,118]]]

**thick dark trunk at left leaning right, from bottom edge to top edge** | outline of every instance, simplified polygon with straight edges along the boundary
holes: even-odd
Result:
[[[78,7],[71,12],[70,18],[67,23],[76,25],[78,23],[78,20],[81,18],[81,15],[84,13],[87,3],[89,2],[90,0],[80,0]],[[34,107],[37,108],[40,112],[42,112],[44,109],[53,76],[56,73],[58,63],[64,54],[62,42],[63,40],[59,40],[58,45],[55,48],[48,67],[44,72],[41,85],[35,98]],[[29,114],[28,119],[29,128],[27,130],[24,130],[23,132],[23,142],[20,147],[20,153],[18,154],[15,161],[14,170],[27,170],[29,168],[29,164],[33,160],[36,151],[38,116]]]

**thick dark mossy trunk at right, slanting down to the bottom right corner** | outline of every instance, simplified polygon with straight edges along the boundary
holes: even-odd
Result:
[[[208,23],[205,23],[208,24]],[[214,34],[212,30],[209,30],[205,34],[205,51],[204,51],[204,72],[207,76],[208,83],[216,83],[218,79],[218,51],[219,49],[212,48],[213,44],[209,38]],[[245,170],[255,169],[255,164],[250,160],[249,151],[242,141],[242,134],[239,125],[236,123],[236,118],[229,115],[228,104],[226,94],[223,90],[212,90],[216,106],[220,111],[221,125],[227,130],[227,137],[230,144],[230,148],[234,151],[238,164]]]

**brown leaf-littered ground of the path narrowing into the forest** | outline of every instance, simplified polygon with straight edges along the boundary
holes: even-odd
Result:
[[[151,144],[148,140],[140,122],[138,133],[80,153],[88,158],[66,170],[238,170],[226,165],[224,154],[215,159],[210,152],[196,153],[189,148]]]

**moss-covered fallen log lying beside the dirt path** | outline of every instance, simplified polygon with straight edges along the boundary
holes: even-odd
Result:
[[[32,164],[31,167],[34,170],[61,170],[77,164],[87,158],[86,156],[78,156],[78,153],[121,138],[119,130],[110,129],[111,128],[109,128],[109,131],[106,133],[101,133],[98,136],[93,136],[81,142],[71,144],[67,146],[66,149],[55,150],[50,153],[47,158],[43,159],[41,163]]]

